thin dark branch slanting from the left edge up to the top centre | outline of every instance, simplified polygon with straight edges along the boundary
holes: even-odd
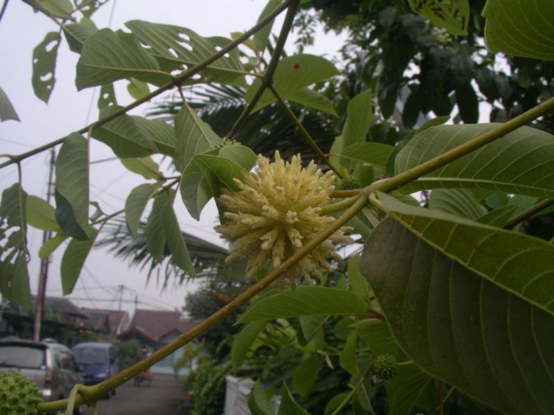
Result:
[[[263,28],[266,24],[268,24],[271,20],[273,20],[277,15],[280,14],[285,8],[289,6],[290,3],[297,3],[298,0],[287,0],[285,3],[283,3],[281,6],[276,8],[273,12],[269,13],[267,17],[260,20],[255,26],[252,26],[249,30],[244,32],[240,37],[238,37],[233,42],[230,42],[223,48],[221,48],[217,53],[214,53],[211,55],[211,57],[208,57],[208,59],[205,59],[204,61],[200,62],[199,64],[196,64],[195,66],[192,66],[188,68],[186,71],[181,73],[180,75],[176,76],[172,81],[168,82],[167,84],[164,84],[163,86],[160,86],[159,89],[152,91],[145,97],[141,98],[140,100],[136,100],[135,102],[132,102],[132,104],[127,105],[127,107],[123,107],[121,109],[118,109],[117,111],[114,111],[114,113],[111,113],[109,116],[106,116],[96,122],[92,122],[91,124],[87,125],[87,127],[83,127],[82,129],[78,130],[77,132],[82,134],[86,133],[89,129],[97,129],[98,127],[106,124],[107,122],[114,120],[114,118],[117,118],[118,116],[127,113],[127,111],[130,111],[136,107],[139,107],[139,105],[143,104],[144,102],[152,100],[152,98],[157,97],[161,93],[168,91],[169,89],[172,89],[174,86],[178,86],[182,84],[184,81],[188,80],[189,77],[195,75],[199,71],[202,71],[202,69],[206,68],[209,64],[214,62],[215,60],[219,59],[226,53],[229,53],[229,51],[236,48],[238,45],[242,44],[245,40],[247,40],[251,35],[258,32],[261,28]],[[37,147],[36,149],[26,151],[25,153],[17,154],[15,156],[12,156],[10,160],[5,161],[4,163],[0,164],[0,169],[3,167],[7,167],[9,165],[12,165],[13,163],[17,163],[18,161],[24,160],[25,158],[28,158],[30,156],[34,156],[35,154],[39,154],[42,151],[45,151],[47,149],[50,149],[51,147],[55,147],[57,145],[62,144],[64,142],[64,138],[58,138],[57,140],[48,142],[45,145],[42,145],[40,147]]]

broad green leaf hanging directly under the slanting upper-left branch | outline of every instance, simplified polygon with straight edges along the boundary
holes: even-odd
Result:
[[[109,116],[119,107],[104,107],[100,109],[100,118]],[[140,120],[140,121],[139,121]],[[154,137],[145,127],[148,124],[158,126],[161,121],[145,120],[137,116],[122,114],[116,119],[106,122],[102,127],[93,129],[92,136],[108,145],[118,157],[145,157],[158,152],[152,140]],[[164,124],[162,122],[162,124]],[[168,128],[170,128],[168,126]]]

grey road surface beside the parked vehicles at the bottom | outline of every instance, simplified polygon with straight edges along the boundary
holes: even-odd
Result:
[[[118,387],[116,396],[98,401],[100,415],[186,415],[179,409],[184,398],[181,380],[172,375],[154,375],[152,386],[133,386],[132,380]],[[91,415],[87,407],[81,407],[83,415]]]

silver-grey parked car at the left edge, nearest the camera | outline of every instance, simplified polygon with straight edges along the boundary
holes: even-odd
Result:
[[[35,382],[44,400],[67,398],[73,385],[84,381],[73,353],[50,339],[42,342],[17,338],[0,340],[0,373],[9,372]]]

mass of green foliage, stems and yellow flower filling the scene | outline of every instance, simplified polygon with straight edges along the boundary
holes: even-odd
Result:
[[[29,3],[80,54],[75,84],[101,87],[101,111],[64,138],[4,155],[0,167],[17,165],[20,180],[0,204],[3,295],[30,305],[26,225],[55,232],[42,256],[69,239],[67,294],[103,227],[125,214],[130,236],[114,237],[120,226],[111,233],[118,254],[140,252],[130,257],[164,266],[166,276],[178,268],[181,281],[203,278],[188,306],[206,317],[114,378],[79,385],[40,411],[71,414],[201,335],[211,357],[190,379],[199,413],[221,412],[222,396],[211,391],[231,371],[256,379],[253,414],[274,414],[276,394],[278,415],[551,411],[552,234],[519,232],[554,199],[551,2],[314,0],[298,12],[298,0],[270,0],[233,40],[146,21],[98,30],[90,17],[100,2]],[[285,10],[270,42],[271,21]],[[282,56],[297,15],[298,53]],[[302,53],[314,21],[348,30],[342,72]],[[51,56],[35,54],[53,71]],[[35,62],[35,73],[43,70]],[[53,81],[48,88],[43,79],[33,86],[47,101]],[[118,107],[111,92],[123,80],[136,102]],[[208,86],[187,100],[190,84]],[[181,102],[152,110],[157,119],[127,115],[170,89]],[[477,123],[481,101],[492,104],[490,123]],[[0,108],[2,120],[17,118],[3,93]],[[91,219],[92,138],[146,183],[121,212]],[[57,145],[54,208],[20,182],[21,161]],[[297,151],[303,163],[291,158]],[[175,172],[162,172],[153,154]],[[192,248],[177,224],[177,194],[196,219],[215,198],[217,230],[232,241],[228,259],[245,257],[242,271],[221,252]],[[236,282],[246,273],[251,284]],[[225,330],[219,342],[206,335],[216,326]]]

